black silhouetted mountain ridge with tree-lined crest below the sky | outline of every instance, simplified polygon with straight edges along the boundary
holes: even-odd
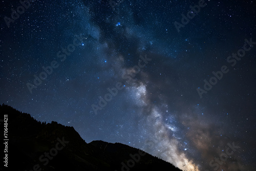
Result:
[[[3,115],[8,115],[8,170],[181,171],[128,145],[103,141],[86,143],[73,127],[54,121],[38,122],[8,105],[0,105],[0,113],[1,130]],[[1,154],[3,159],[7,153]]]

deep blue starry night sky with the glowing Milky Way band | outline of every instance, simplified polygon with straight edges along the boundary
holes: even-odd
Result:
[[[183,170],[255,170],[255,1],[0,6],[1,104]]]

